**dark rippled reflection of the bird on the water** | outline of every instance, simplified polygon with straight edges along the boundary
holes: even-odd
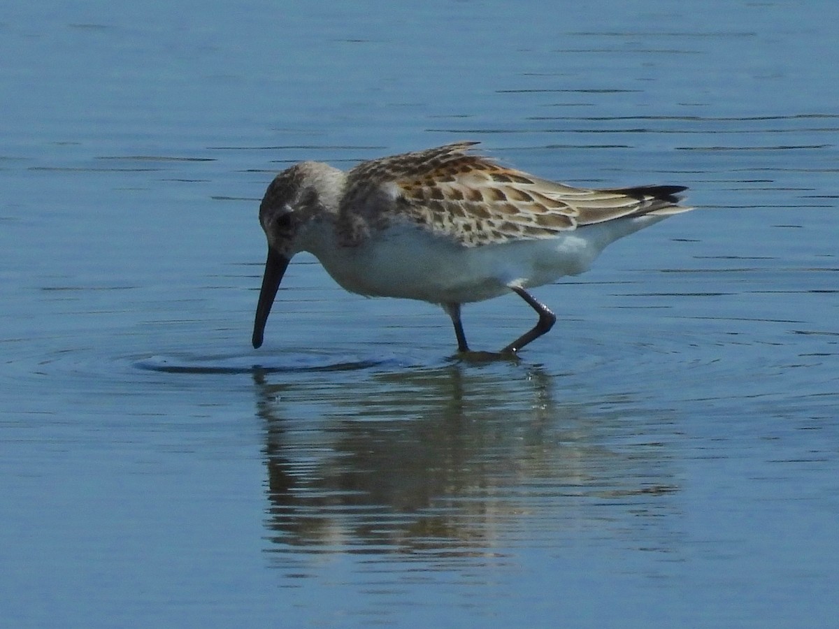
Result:
[[[574,526],[575,497],[672,487],[599,444],[602,418],[538,367],[334,376],[254,373],[277,549],[495,556],[545,502],[571,498]]]

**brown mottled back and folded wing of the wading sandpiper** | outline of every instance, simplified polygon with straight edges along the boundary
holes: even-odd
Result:
[[[347,244],[409,221],[467,247],[556,237],[577,226],[675,213],[679,186],[587,190],[508,169],[461,142],[362,162],[347,174],[339,225]]]

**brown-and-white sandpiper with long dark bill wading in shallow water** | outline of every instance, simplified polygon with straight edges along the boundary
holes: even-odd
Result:
[[[691,210],[680,185],[590,190],[487,159],[475,142],[358,164],[301,162],[278,174],[259,206],[268,237],[253,346],[291,257],[311,252],[337,283],[370,297],[440,304],[468,352],[461,304],[512,291],[539,320],[502,350],[514,355],[556,317],[527,291],[586,271],[610,242]]]

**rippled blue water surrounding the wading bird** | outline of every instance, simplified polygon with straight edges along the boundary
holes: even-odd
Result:
[[[7,7],[0,625],[835,623],[836,13]],[[701,209],[537,289],[519,364],[305,256],[253,351],[272,174],[461,138]]]

